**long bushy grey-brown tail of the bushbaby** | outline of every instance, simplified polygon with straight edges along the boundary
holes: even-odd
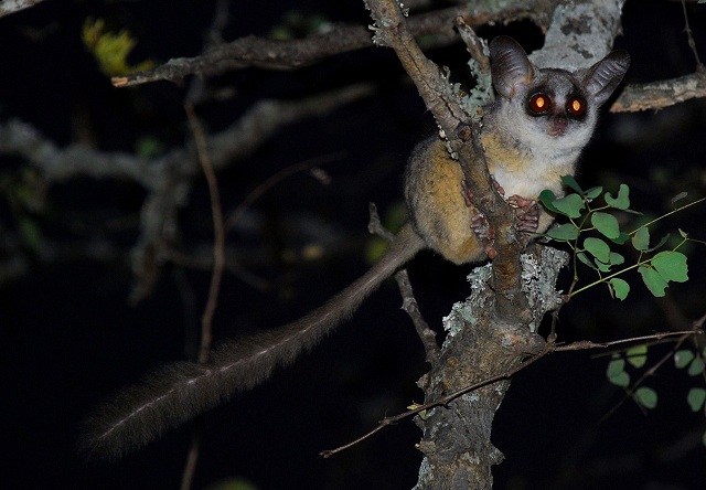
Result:
[[[223,343],[207,364],[170,364],[124,390],[87,419],[82,448],[89,456],[119,458],[233,393],[263,383],[276,366],[312,349],[422,248],[422,239],[405,225],[375,266],[319,309],[278,329]]]

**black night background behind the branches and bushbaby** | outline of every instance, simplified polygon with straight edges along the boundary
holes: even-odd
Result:
[[[224,38],[267,35],[288,11],[371,23],[361,1],[232,2]],[[706,56],[706,6],[689,4],[688,11]],[[113,88],[82,45],[81,28],[88,17],[105,18],[139,40],[136,61],[160,62],[197,55],[212,15],[212,2],[50,0],[0,18],[0,122],[19,118],[60,147],[86,134],[105,151],[132,152],[146,135],[167,148],[182,145],[190,138],[182,109],[189,81]],[[617,45],[632,55],[629,83],[694,72],[681,3],[629,1],[623,31]],[[526,22],[480,30],[489,38],[500,33],[515,36],[528,51],[542,44],[541,32]],[[467,57],[460,44],[429,54],[458,68],[462,77]],[[357,277],[367,267],[362,253],[368,241],[367,203],[376,202],[383,213],[399,204],[406,156],[432,131],[434,122],[391,50],[362,50],[299,71],[243,70],[210,81],[212,87],[238,90],[235,99],[197,109],[207,130],[215,132],[257,99],[297,99],[357,79],[376,83],[377,94],[325,118],[285,127],[252,157],[218,174],[227,213],[277,171],[338,156],[323,167],[332,178],[329,185],[293,175],[254,204],[250,228],[228,235],[228,245],[243,257],[255,257],[252,267],[244,266],[266,278],[269,288],[258,290],[226,274],[216,338],[292,320]],[[703,100],[659,113],[605,114],[578,178],[586,188],[600,182],[617,189],[625,182],[634,209],[662,213],[683,190],[693,199],[703,195],[705,141]],[[12,181],[22,169],[21,159],[0,156],[3,181]],[[6,189],[0,194],[0,234],[14,236],[21,213],[7,195]],[[143,199],[132,182],[85,178],[52,185],[46,207],[32,214],[47,243],[79,244],[99,233],[124,253],[100,262],[82,257],[81,248],[52,259],[15,251],[30,258],[31,267],[0,284],[2,488],[179,486],[191,425],[115,464],[86,462],[75,451],[81,420],[93,406],[150,370],[194,352],[207,270],[168,263],[153,292],[137,306],[128,303],[129,251],[138,236]],[[681,226],[706,239],[702,216],[703,206],[692,209],[660,232]],[[203,181],[194,185],[180,217],[184,252],[210,246]],[[120,219],[127,224],[108,227]],[[328,247],[324,259],[282,258],[320,241]],[[700,317],[703,256],[703,247],[691,248],[691,280],[670,287],[668,303],[642,295],[634,277],[634,292],[624,302],[611,300],[605,289],[577,296],[561,311],[560,340],[613,340],[667,330],[665,305],[675,305],[689,319]],[[431,254],[410,265],[415,292],[434,328],[453,301],[467,296],[468,271]],[[414,448],[420,433],[411,422],[331,459],[318,456],[370,430],[384,415],[421,402],[415,381],[425,372],[424,352],[399,305],[396,287],[386,284],[311,354],[208,413],[194,488],[235,477],[259,489],[411,488],[421,460]],[[668,349],[655,348],[649,363]],[[706,424],[703,414],[693,414],[685,403],[688,388],[703,385],[703,379],[687,379],[666,363],[648,380],[660,393],[656,409],[644,414],[628,401],[599,422],[620,401],[621,391],[605,379],[607,358],[596,359],[595,353],[547,356],[513,381],[495,418],[493,443],[505,455],[494,470],[495,488],[706,488],[706,449],[700,445]]]

